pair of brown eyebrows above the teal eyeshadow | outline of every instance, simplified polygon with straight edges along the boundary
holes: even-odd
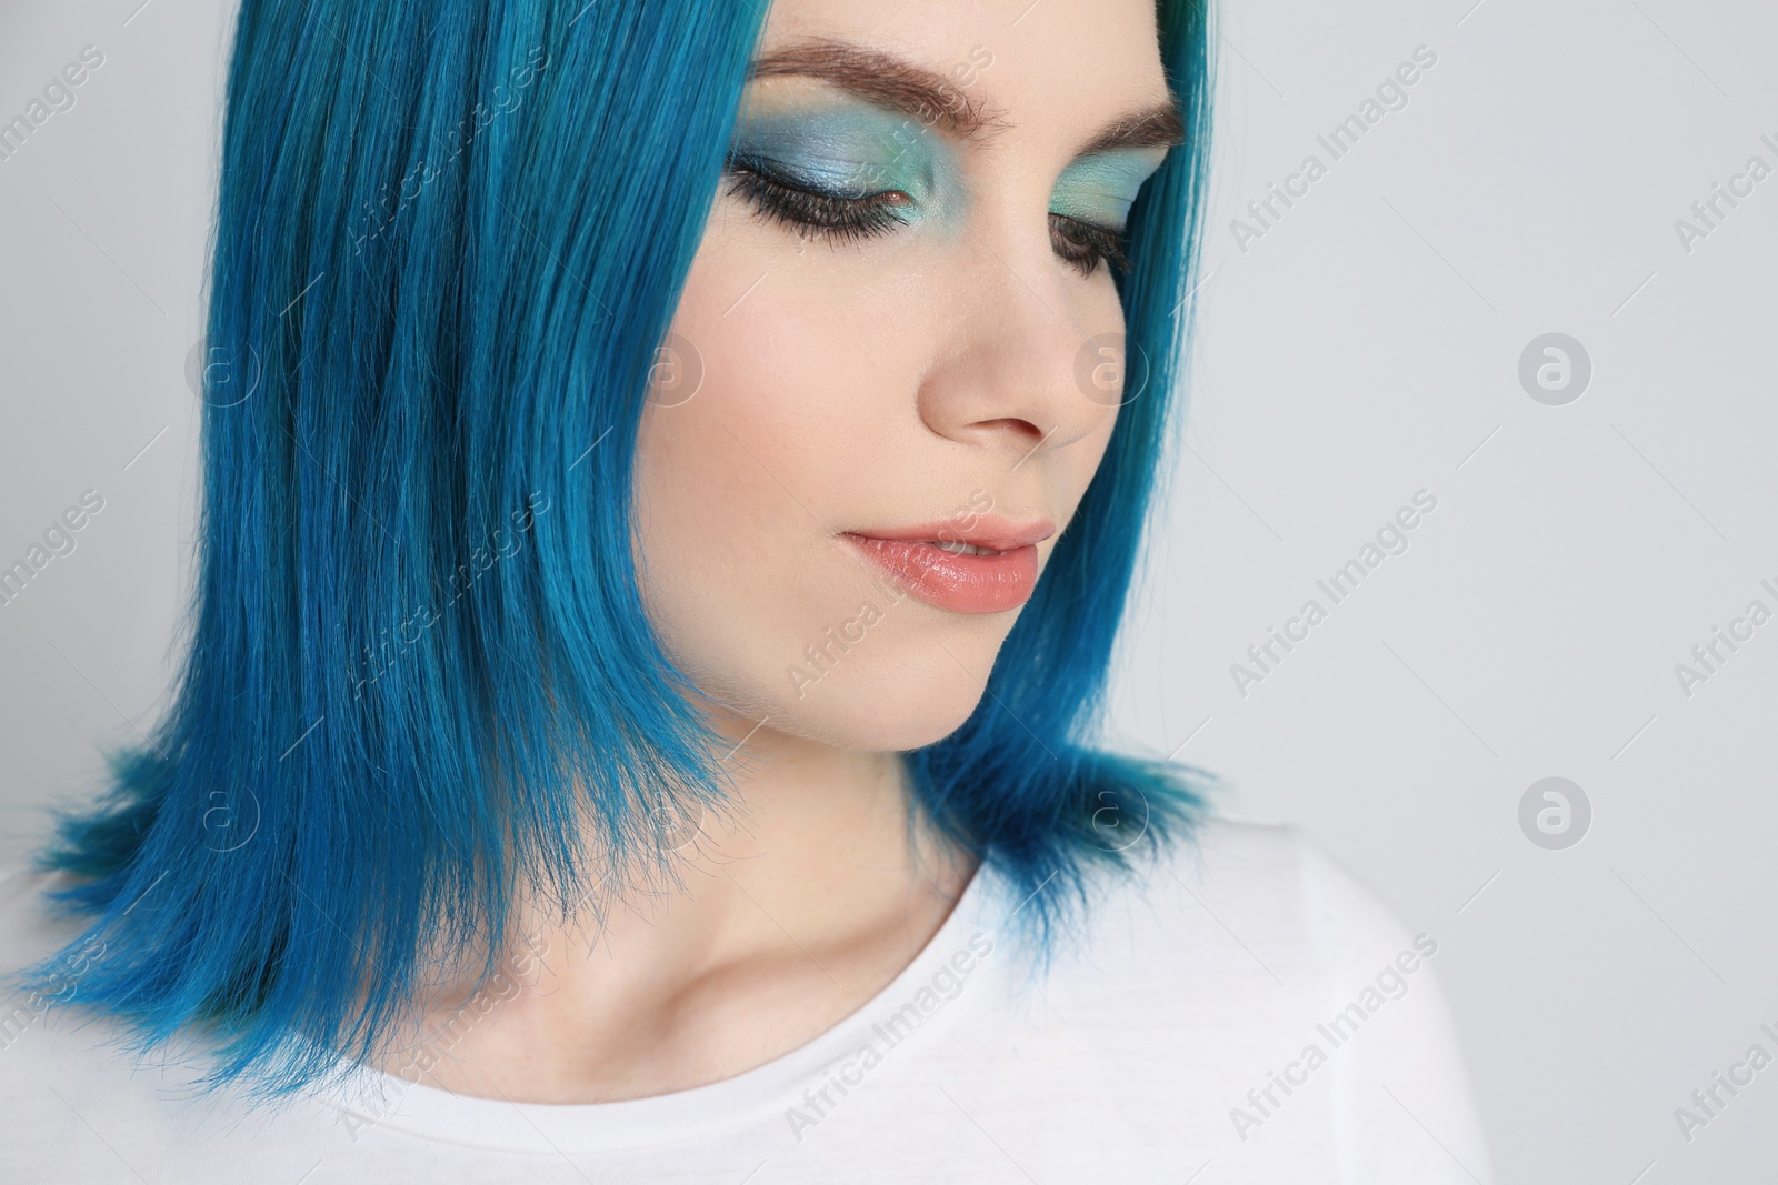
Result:
[[[1008,128],[999,107],[969,96],[944,75],[850,41],[813,39],[761,55],[749,78],[820,78],[862,99],[905,112],[958,140],[980,142]],[[1179,99],[1118,115],[1077,156],[1118,147],[1177,147],[1186,140]]]

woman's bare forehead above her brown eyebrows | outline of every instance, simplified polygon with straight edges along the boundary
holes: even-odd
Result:
[[[1127,112],[1168,99],[1156,0],[775,0],[761,41],[766,75],[912,68],[923,103],[958,139],[1081,144]],[[811,71],[813,73],[813,71]],[[909,78],[912,87],[917,78]],[[884,87],[896,87],[889,78]],[[894,94],[878,94],[891,107]],[[910,98],[903,94],[900,98]]]

